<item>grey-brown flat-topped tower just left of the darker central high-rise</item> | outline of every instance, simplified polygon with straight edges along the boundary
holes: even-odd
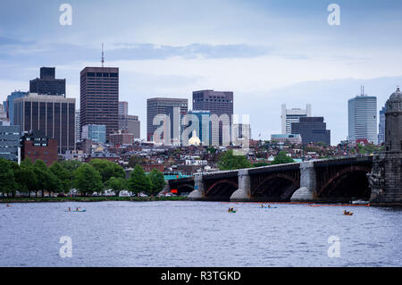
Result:
[[[149,98],[147,99],[147,140],[153,141],[154,132],[159,126],[153,124],[154,118],[157,114],[169,115],[169,107],[179,107],[180,112],[186,112],[188,110],[188,99],[182,98]],[[170,126],[165,126],[166,131],[170,130]]]

